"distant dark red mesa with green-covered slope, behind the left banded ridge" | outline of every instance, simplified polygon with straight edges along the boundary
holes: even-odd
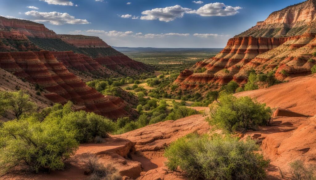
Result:
[[[58,55],[57,60],[65,63],[66,67],[72,68],[69,70],[76,75],[80,75],[80,72],[88,73],[89,77],[85,78],[87,80],[95,76],[100,78],[132,76],[152,71],[151,67],[130,59],[98,37],[57,35],[43,24],[0,16],[0,52],[40,50],[74,51],[82,54],[55,53]],[[100,58],[98,61],[101,64],[92,58]],[[111,59],[111,63],[107,63],[108,59]]]

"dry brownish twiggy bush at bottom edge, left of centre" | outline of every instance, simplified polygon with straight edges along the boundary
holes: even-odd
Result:
[[[115,169],[111,164],[106,166],[103,165],[94,154],[88,154],[84,159],[84,164],[86,168],[91,170],[91,174],[88,180],[121,180],[122,177],[119,175],[117,169]]]

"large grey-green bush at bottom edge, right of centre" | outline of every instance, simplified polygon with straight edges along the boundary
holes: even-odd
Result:
[[[261,180],[269,165],[259,146],[248,138],[245,142],[230,136],[190,134],[170,144],[165,150],[168,169],[178,167],[194,180]]]

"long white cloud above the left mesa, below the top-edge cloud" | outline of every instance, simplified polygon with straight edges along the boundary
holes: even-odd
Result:
[[[49,22],[53,25],[89,24],[88,20],[76,19],[68,13],[27,11],[25,15],[33,16],[36,22]]]

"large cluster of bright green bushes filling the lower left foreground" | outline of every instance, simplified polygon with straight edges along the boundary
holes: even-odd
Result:
[[[75,154],[79,143],[114,131],[111,120],[95,113],[74,112],[71,107],[71,102],[55,104],[40,113],[4,122],[0,126],[0,174],[20,164],[36,172],[62,170],[64,160]]]

